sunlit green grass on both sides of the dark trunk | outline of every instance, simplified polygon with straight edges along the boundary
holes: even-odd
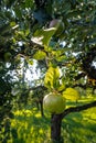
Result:
[[[87,99],[88,102],[92,99]],[[78,105],[82,105],[82,100]],[[68,102],[68,106],[73,103]],[[11,139],[8,143],[50,143],[50,114],[24,109],[14,112],[11,120]],[[64,143],[96,143],[96,108],[68,114],[63,119]]]

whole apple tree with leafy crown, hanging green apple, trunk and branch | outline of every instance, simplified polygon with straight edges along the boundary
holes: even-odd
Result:
[[[32,80],[33,86],[30,87],[25,84],[25,72],[30,69],[29,65],[34,65],[34,61],[41,77],[36,84]],[[30,89],[38,90],[39,86],[43,91],[47,90],[50,95],[40,101],[52,114],[51,139],[63,142],[63,118],[96,106],[93,101],[65,108],[65,100],[81,98],[76,87],[84,90],[89,87],[93,92],[96,89],[95,0],[0,1],[0,122],[7,117],[12,118],[17,98],[12,90],[19,84],[21,95],[23,89],[26,89],[28,96]],[[24,101],[28,100],[25,95]],[[19,103],[22,102],[20,97]]]

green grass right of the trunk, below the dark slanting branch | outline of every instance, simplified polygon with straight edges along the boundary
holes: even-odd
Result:
[[[92,110],[71,113],[63,120],[65,143],[96,143],[96,108]]]

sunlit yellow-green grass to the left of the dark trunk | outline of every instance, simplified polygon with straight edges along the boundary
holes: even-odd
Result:
[[[43,143],[46,138],[50,139],[49,121],[43,119],[40,112],[18,110],[14,114],[11,129],[17,135],[12,132],[13,140],[10,143]]]

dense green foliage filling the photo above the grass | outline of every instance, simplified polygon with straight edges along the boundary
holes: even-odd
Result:
[[[50,28],[61,20],[64,29]],[[25,73],[35,66],[39,79]],[[13,109],[30,103],[41,107],[51,91],[44,85],[49,67],[60,67],[60,81],[52,82],[63,92],[75,87],[81,96],[96,89],[96,1],[95,0],[1,0],[0,1],[0,134],[9,139]],[[61,85],[61,86],[60,86]],[[84,94],[83,94],[84,91]],[[43,111],[42,111],[43,116]]]

